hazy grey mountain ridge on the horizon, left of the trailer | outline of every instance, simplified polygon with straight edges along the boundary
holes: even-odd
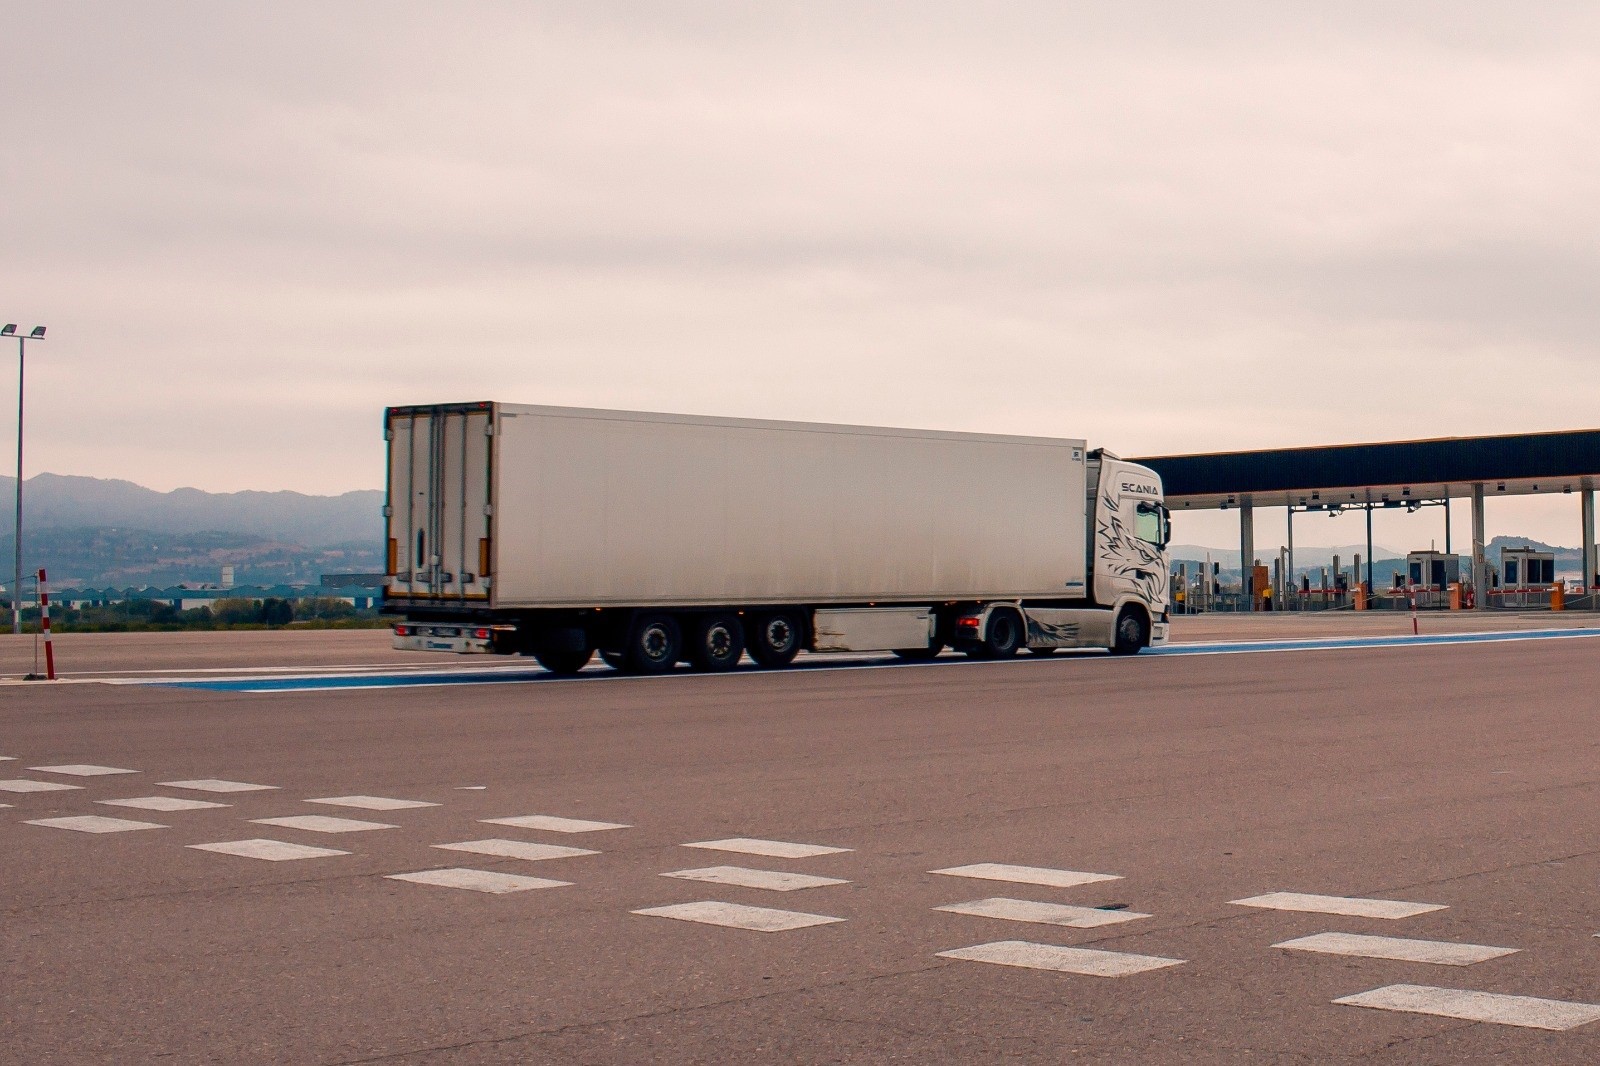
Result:
[[[14,477],[0,477],[0,536],[13,533],[8,506]],[[37,474],[22,487],[22,522],[29,530],[125,528],[152,533],[238,533],[258,539],[322,547],[382,539],[384,495],[378,490],[341,496],[242,491],[206,493],[178,488],[158,493],[133,482]],[[27,544],[24,543],[24,549]]]

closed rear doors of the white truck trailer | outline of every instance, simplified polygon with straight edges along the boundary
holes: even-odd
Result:
[[[486,600],[493,410],[389,411],[389,595]]]

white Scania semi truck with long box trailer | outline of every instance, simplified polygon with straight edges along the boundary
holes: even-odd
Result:
[[[384,435],[397,648],[656,674],[1166,640],[1160,479],[1083,440],[515,403]]]

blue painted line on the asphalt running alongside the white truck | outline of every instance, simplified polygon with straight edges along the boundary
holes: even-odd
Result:
[[[1600,629],[1523,629],[1510,632],[1459,632],[1434,634],[1422,637],[1328,637],[1312,640],[1219,640],[1214,643],[1170,643],[1162,648],[1147,648],[1142,655],[1250,655],[1261,651],[1342,651],[1350,648],[1416,648],[1440,647],[1454,643],[1507,643],[1514,640],[1570,640],[1579,637],[1600,637]],[[1102,655],[1083,656],[1083,661],[1104,661]],[[1058,659],[1066,661],[1066,659]],[[974,664],[970,659],[944,659],[942,663],[826,663],[818,661],[800,669],[912,669],[915,666],[955,666]],[[997,663],[981,663],[995,666]],[[738,671],[746,672],[746,671]],[[600,680],[605,677],[621,679],[624,675],[611,671],[592,671],[574,680]],[[154,682],[163,688],[195,688],[203,691],[333,691],[355,688],[418,688],[438,685],[522,685],[528,682],[555,680],[541,669],[506,671],[506,669],[469,669],[450,672],[406,672],[406,674],[341,674],[341,675],[301,675],[301,677],[254,677],[237,680],[178,680]]]

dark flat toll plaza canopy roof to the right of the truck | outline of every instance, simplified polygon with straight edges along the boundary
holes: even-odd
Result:
[[[1600,429],[1509,437],[1218,451],[1134,459],[1162,477],[1173,511],[1339,507],[1387,501],[1590,491],[1600,480]]]

